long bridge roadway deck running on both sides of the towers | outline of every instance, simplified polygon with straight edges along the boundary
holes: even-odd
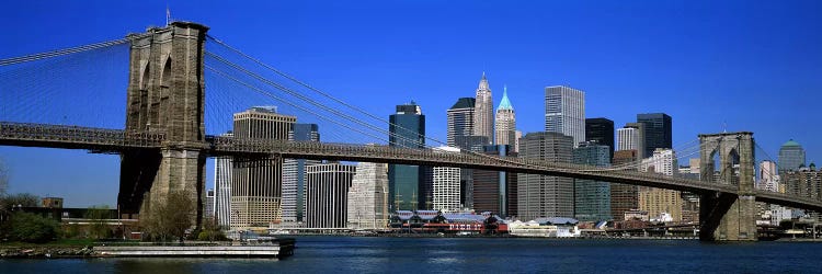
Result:
[[[87,149],[118,153],[129,149],[164,147],[162,134],[126,133],[122,129],[0,122],[0,146]],[[455,167],[544,174],[594,181],[642,185],[699,194],[737,194],[737,186],[699,180],[669,178],[657,173],[613,170],[591,165],[520,158],[498,158],[434,149],[396,148],[384,145],[240,139],[206,136],[203,148],[209,156],[256,158],[276,155],[284,158],[403,163]],[[756,191],[757,201],[798,208],[822,210],[822,201]]]

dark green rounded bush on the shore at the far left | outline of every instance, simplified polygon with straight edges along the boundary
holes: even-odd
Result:
[[[14,213],[9,221],[10,238],[24,242],[48,242],[57,237],[60,224],[31,213]]]

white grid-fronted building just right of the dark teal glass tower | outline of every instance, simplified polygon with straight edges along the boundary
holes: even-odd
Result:
[[[438,151],[459,152],[458,148],[438,147]],[[459,168],[434,167],[433,169],[433,208],[442,212],[460,209]]]

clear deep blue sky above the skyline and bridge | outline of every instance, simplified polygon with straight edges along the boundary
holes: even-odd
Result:
[[[0,58],[163,25],[165,5],[7,1]],[[387,116],[414,100],[437,139],[445,139],[446,109],[473,96],[486,71],[495,103],[507,84],[525,133],[543,129],[544,88],[570,84],[585,91],[586,116],[617,127],[637,113],[667,113],[674,146],[699,133],[751,130],[773,157],[794,138],[809,161],[822,161],[820,1],[168,5],[173,18],[202,22],[214,36],[370,113]],[[64,196],[68,206],[116,201],[117,156],[0,147],[0,158],[12,170],[12,192]]]

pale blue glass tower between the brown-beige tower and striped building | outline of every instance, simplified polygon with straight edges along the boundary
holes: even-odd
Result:
[[[294,124],[288,140],[320,141],[317,124]],[[322,161],[285,159],[283,161],[283,221],[302,221],[306,207],[306,167]]]

